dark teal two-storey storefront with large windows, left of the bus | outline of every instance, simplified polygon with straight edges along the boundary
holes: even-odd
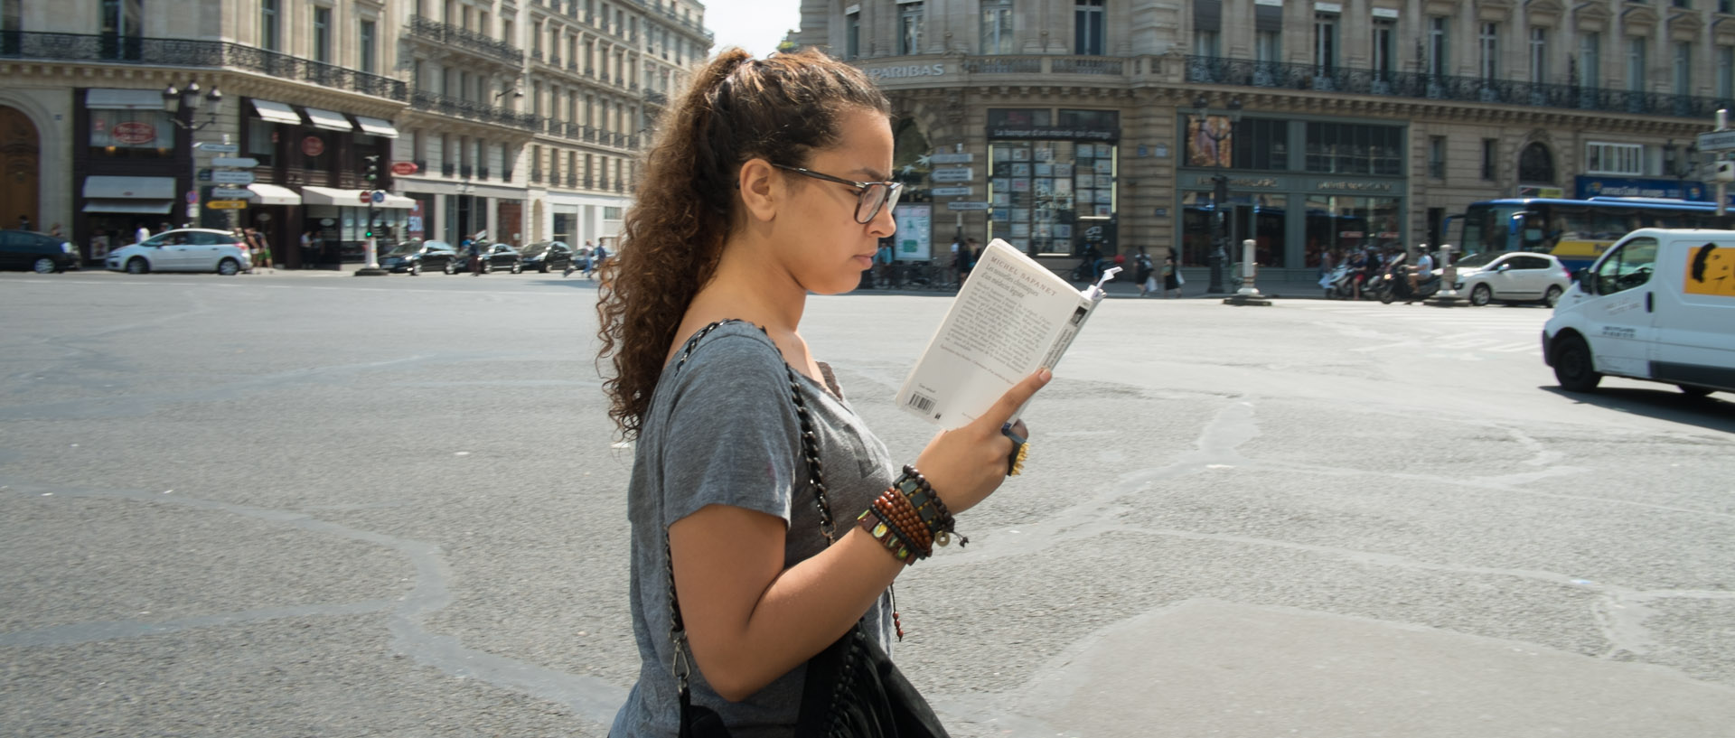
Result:
[[[1211,263],[1218,217],[1225,263],[1242,260],[1246,239],[1260,267],[1308,272],[1327,251],[1409,243],[1404,126],[1182,114],[1180,130],[1183,267]]]

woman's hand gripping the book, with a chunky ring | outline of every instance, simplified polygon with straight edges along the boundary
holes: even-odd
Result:
[[[1050,379],[1053,372],[1048,369],[1031,372],[975,421],[940,431],[926,449],[921,449],[916,469],[933,485],[953,515],[975,508],[1006,482],[1013,442],[1001,433],[1001,426]],[[1024,421],[1013,423],[1012,431],[1029,438]]]

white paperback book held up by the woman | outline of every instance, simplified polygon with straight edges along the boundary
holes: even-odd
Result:
[[[994,239],[904,379],[897,404],[944,428],[973,421],[1018,379],[1053,369],[1100,298],[1100,289],[1074,289]]]

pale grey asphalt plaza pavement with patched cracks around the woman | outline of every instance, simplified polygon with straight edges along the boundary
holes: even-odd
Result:
[[[583,735],[638,669],[593,282],[0,275],[12,735]],[[940,295],[814,298],[894,457]],[[1541,308],[1105,305],[909,570],[958,736],[1735,735],[1735,404]]]

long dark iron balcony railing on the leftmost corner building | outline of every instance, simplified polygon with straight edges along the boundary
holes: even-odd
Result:
[[[399,80],[229,42],[0,31],[0,59],[239,69],[397,102],[408,99],[408,85]]]

